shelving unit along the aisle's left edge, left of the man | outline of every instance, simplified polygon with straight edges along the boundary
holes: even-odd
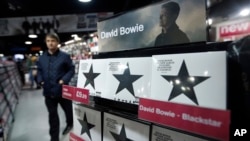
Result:
[[[0,118],[7,137],[21,92],[20,76],[14,62],[0,63]]]

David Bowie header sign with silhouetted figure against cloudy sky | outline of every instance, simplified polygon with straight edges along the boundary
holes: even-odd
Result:
[[[206,41],[205,0],[155,3],[97,23],[100,52]]]

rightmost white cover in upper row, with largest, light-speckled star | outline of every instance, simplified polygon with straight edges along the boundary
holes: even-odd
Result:
[[[152,56],[149,98],[226,109],[226,52]]]

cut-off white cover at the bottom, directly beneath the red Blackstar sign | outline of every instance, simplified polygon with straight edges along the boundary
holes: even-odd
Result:
[[[209,141],[174,130],[153,125],[151,141]]]

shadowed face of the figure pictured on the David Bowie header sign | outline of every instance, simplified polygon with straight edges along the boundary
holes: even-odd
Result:
[[[160,14],[160,26],[168,28],[172,23],[173,18],[171,17],[171,14],[165,8],[162,8]]]

